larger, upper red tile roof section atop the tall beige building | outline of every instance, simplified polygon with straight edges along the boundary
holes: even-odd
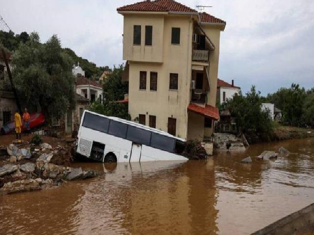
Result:
[[[117,11],[197,12],[174,0],[145,0],[117,8]]]

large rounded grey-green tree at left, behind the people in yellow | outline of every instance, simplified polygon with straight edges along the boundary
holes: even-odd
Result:
[[[41,107],[47,119],[60,118],[75,105],[72,59],[53,35],[41,44],[31,33],[13,54],[14,83],[27,107]]]

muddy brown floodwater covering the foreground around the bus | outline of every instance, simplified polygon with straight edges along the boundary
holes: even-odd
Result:
[[[291,154],[240,164],[286,147]],[[314,203],[314,139],[256,144],[207,162],[103,165],[60,188],[0,197],[0,234],[250,234]]]

